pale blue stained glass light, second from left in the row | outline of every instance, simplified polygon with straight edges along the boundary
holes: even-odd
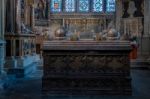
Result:
[[[75,0],[65,0],[65,11],[66,12],[75,11]]]

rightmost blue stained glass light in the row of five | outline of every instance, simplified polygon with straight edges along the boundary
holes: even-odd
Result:
[[[107,0],[106,11],[114,12],[115,11],[115,0]]]

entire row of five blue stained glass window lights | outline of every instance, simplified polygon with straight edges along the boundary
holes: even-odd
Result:
[[[115,12],[116,0],[50,0],[51,12],[75,12],[78,9],[79,12],[103,12],[106,8],[106,12]],[[106,3],[105,3],[106,1]],[[63,5],[64,4],[64,5]],[[76,8],[76,4],[78,8]],[[90,5],[91,4],[91,5]]]

